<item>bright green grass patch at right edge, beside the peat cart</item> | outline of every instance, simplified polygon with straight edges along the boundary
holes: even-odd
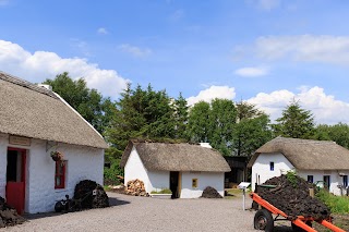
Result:
[[[335,196],[325,190],[318,191],[316,197],[329,207],[332,212],[348,213],[349,212],[349,197]]]

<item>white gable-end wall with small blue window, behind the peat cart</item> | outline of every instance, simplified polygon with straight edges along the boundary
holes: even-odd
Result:
[[[274,162],[274,171],[270,171],[270,162]],[[252,166],[252,191],[254,191],[255,183],[263,184],[266,180],[286,174],[293,168],[282,154],[260,154]]]

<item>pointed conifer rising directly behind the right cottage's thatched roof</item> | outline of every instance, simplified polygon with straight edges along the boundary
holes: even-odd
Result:
[[[314,118],[311,111],[300,107],[298,101],[292,101],[285,110],[282,117],[276,120],[275,134],[293,138],[312,138],[314,136]]]

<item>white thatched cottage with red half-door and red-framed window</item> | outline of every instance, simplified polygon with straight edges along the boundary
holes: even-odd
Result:
[[[105,148],[59,95],[0,72],[0,196],[20,213],[52,211],[82,180],[103,184]]]

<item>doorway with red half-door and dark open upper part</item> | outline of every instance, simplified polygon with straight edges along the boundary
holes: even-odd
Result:
[[[26,150],[8,148],[7,203],[20,215],[24,212],[25,203]]]

